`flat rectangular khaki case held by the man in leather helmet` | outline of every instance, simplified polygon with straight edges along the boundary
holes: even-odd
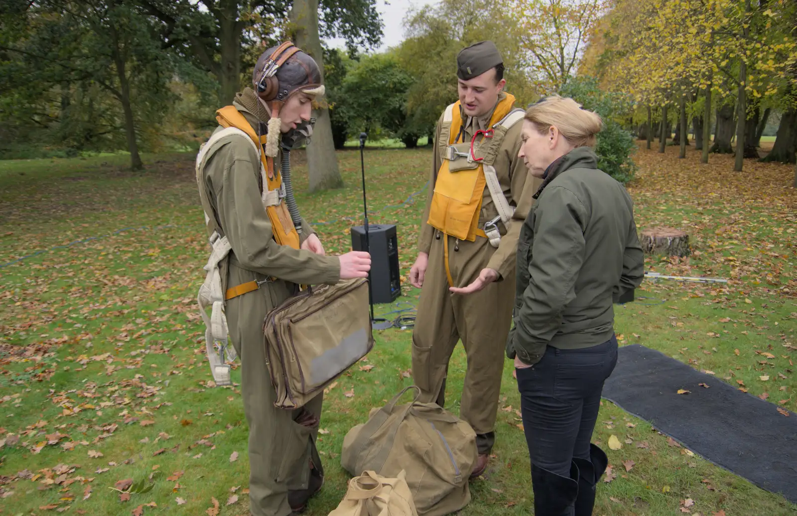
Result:
[[[301,407],[374,346],[368,282],[310,287],[269,311],[263,333],[274,406]]]

